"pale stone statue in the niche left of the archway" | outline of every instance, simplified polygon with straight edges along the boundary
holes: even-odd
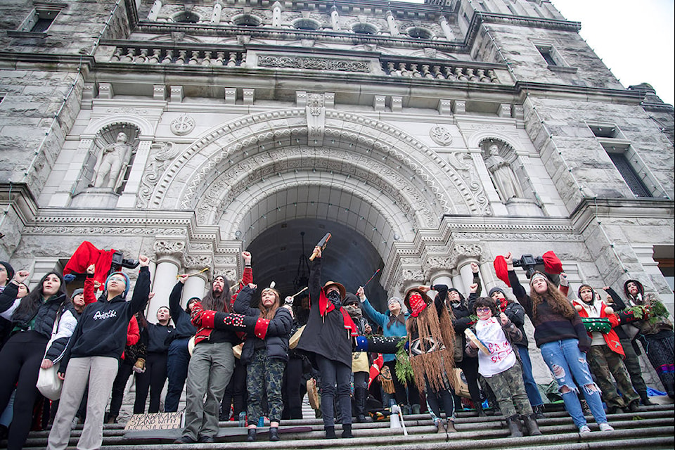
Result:
[[[98,145],[102,147],[101,156],[96,162],[92,186],[117,191],[124,182],[124,174],[131,158],[132,147],[127,143],[129,136],[120,131],[115,142],[105,144],[100,141],[101,139],[97,139]]]

